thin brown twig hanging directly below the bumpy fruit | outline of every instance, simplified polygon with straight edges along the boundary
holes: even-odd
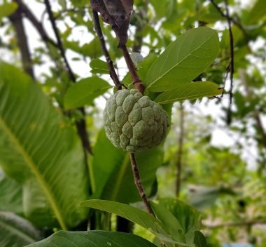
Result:
[[[139,195],[141,196],[142,201],[144,202],[144,205],[146,206],[146,209],[148,213],[151,213],[155,217],[155,214],[153,213],[153,209],[151,208],[150,204],[148,203],[148,199],[146,197],[146,194],[144,192],[144,187],[141,183],[141,177],[139,175],[139,168],[137,166],[137,161],[135,158],[135,155],[133,153],[130,153],[130,161],[131,161],[131,168],[134,175],[134,181],[135,185],[137,186],[137,189],[139,191]]]

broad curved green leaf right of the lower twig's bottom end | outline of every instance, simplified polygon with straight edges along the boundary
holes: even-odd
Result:
[[[200,231],[202,226],[201,213],[179,199],[162,198],[159,203],[179,221],[186,236],[186,243],[193,243],[194,232]]]

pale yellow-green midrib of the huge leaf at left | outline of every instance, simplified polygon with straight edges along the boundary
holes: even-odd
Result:
[[[55,213],[59,225],[62,227],[63,230],[66,231],[67,230],[66,222],[64,222],[64,218],[62,216],[61,211],[59,210],[59,206],[57,206],[57,201],[55,200],[55,196],[52,194],[52,191],[50,190],[50,187],[48,186],[47,182],[45,182],[41,173],[36,168],[37,166],[36,163],[34,163],[34,161],[31,159],[25,148],[20,143],[20,140],[18,140],[18,138],[15,137],[13,131],[10,128],[8,128],[6,122],[1,116],[0,116],[0,126],[2,126],[3,131],[7,133],[10,141],[13,142],[15,148],[18,150],[18,153],[22,155],[23,159],[25,160],[25,163],[27,164],[27,166],[29,166],[31,172],[34,173],[34,175],[36,176],[38,183],[43,188],[43,191],[47,196],[48,201],[50,202],[50,206],[52,207]]]

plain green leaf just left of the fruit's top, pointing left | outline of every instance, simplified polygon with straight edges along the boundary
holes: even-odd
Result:
[[[64,97],[64,107],[73,109],[83,105],[91,105],[93,100],[105,93],[111,86],[107,81],[93,76],[73,84]]]

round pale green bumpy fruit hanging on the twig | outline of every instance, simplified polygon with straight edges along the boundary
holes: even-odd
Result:
[[[127,152],[155,147],[167,135],[168,114],[137,90],[120,90],[106,102],[104,128],[113,145]]]

